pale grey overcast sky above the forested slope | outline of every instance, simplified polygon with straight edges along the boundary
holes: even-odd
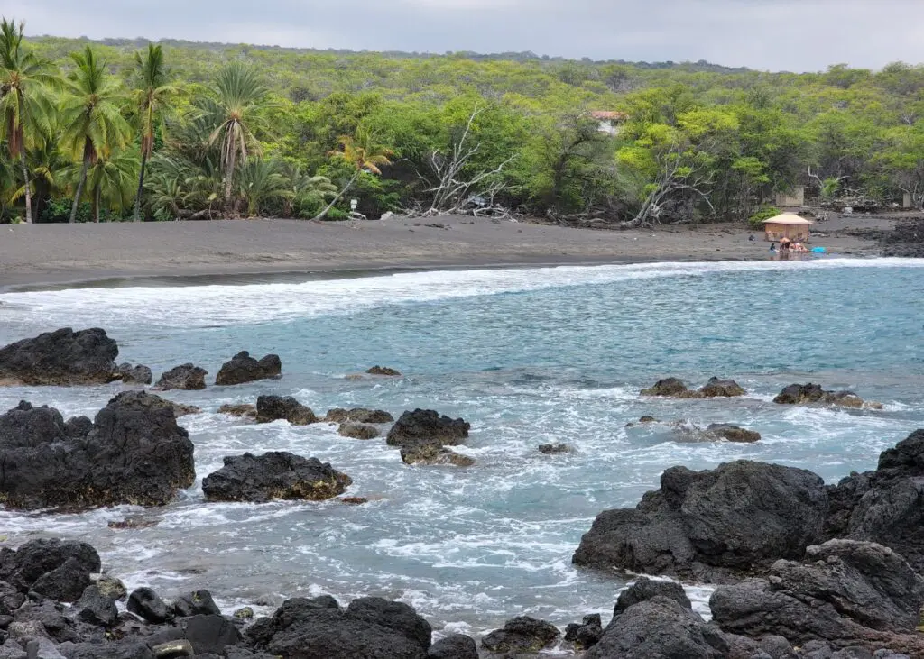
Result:
[[[924,61],[924,0],[4,0],[28,34],[821,70]]]

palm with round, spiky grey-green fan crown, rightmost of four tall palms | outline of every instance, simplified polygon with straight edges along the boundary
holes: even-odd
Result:
[[[237,161],[247,162],[249,151],[259,151],[254,132],[262,127],[259,111],[267,106],[267,89],[256,69],[242,62],[225,65],[215,80],[216,90],[197,100],[195,118],[213,126],[210,144],[219,145],[225,184],[225,210],[231,210],[231,190]]]

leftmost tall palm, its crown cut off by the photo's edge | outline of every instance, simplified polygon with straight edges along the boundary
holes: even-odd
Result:
[[[32,222],[32,189],[26,164],[27,131],[41,126],[50,114],[43,85],[55,77],[47,63],[22,49],[22,30],[4,18],[0,22],[0,132],[12,161],[19,161],[26,198],[26,222]]]

